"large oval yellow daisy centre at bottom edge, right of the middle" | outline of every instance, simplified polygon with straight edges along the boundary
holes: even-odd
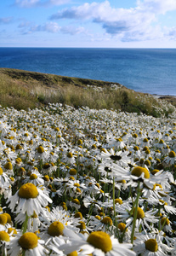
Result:
[[[88,243],[107,253],[111,251],[111,237],[103,231],[94,231],[88,236]]]

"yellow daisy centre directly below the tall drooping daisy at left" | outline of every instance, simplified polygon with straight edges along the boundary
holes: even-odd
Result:
[[[19,239],[20,247],[22,247],[24,250],[30,250],[35,247],[37,247],[38,244],[38,238],[37,235],[32,232],[27,232],[20,236]]]

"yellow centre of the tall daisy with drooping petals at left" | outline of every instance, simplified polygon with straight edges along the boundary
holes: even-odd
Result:
[[[19,189],[20,198],[36,198],[38,195],[37,187],[32,183],[26,183]]]

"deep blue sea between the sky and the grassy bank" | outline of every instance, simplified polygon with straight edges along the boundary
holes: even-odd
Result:
[[[0,67],[97,79],[176,96],[176,49],[0,48]]]

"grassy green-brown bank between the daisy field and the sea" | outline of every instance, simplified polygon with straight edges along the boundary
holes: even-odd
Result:
[[[118,83],[0,68],[0,104],[3,107],[27,109],[60,102],[75,108],[113,108],[159,117],[173,113],[174,100],[158,99]]]

